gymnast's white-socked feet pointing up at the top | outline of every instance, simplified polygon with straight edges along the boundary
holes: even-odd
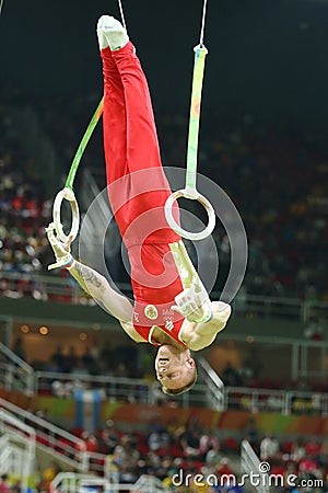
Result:
[[[129,41],[126,28],[110,15],[102,15],[97,23],[99,49],[109,48],[112,51],[122,48]]]

